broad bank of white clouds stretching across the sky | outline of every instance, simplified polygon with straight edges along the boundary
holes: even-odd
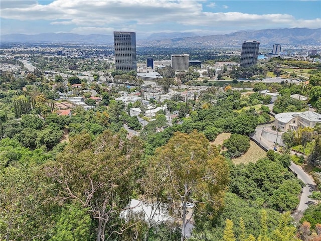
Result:
[[[214,2],[207,6],[217,7]],[[228,8],[226,5],[222,7]],[[295,19],[287,14],[203,12],[199,0],[55,0],[48,5],[42,5],[41,1],[2,0],[0,14],[3,19],[49,21],[56,28],[70,25],[73,33],[106,33],[112,29],[135,32],[178,32],[182,29],[190,32],[189,29],[197,29],[213,32],[218,28],[229,31],[321,26],[320,19]]]

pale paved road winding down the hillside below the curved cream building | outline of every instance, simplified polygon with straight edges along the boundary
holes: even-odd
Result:
[[[271,124],[268,124],[265,126],[269,126],[269,125]],[[273,147],[274,147],[273,142],[269,142],[264,138],[261,138],[263,127],[264,126],[257,127],[255,129],[255,133],[250,135],[250,137],[256,140],[258,143],[260,143],[267,150],[273,150]],[[300,203],[296,208],[295,212],[292,214],[292,217],[294,218],[294,220],[299,221],[300,218],[303,216],[304,210],[308,207],[308,204],[315,203],[314,200],[308,197],[309,195],[312,194],[312,191],[315,190],[315,183],[313,179],[306,172],[304,172],[300,166],[291,162],[291,165],[289,166],[289,168],[292,170],[295,176],[305,184],[305,186],[302,188]]]

